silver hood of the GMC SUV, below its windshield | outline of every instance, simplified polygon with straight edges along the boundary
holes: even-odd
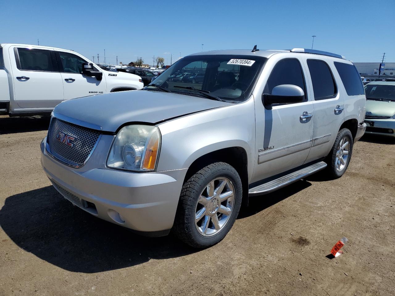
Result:
[[[128,122],[155,124],[185,114],[232,105],[203,97],[150,90],[129,90],[64,101],[54,112],[80,125],[115,132]],[[70,120],[73,122],[73,120]],[[81,123],[82,122],[82,123]]]

